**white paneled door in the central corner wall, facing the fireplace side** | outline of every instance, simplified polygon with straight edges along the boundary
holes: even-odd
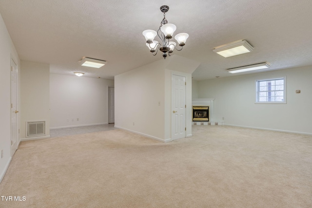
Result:
[[[185,76],[172,75],[172,140],[185,137]]]

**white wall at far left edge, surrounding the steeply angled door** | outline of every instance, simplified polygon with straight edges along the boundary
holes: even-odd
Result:
[[[20,106],[20,58],[13,45],[12,39],[0,16],[0,155],[3,150],[3,157],[0,156],[0,182],[11,161],[11,58],[18,66],[18,107]],[[20,114],[18,114],[18,126],[20,128]],[[20,140],[20,134],[18,135]]]

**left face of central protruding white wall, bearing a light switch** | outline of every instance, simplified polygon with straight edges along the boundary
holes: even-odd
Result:
[[[164,94],[163,60],[115,76],[115,126],[164,141]]]

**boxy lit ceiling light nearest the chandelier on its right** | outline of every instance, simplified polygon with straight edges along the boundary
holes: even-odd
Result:
[[[213,49],[215,53],[221,55],[222,57],[233,57],[252,52],[253,50],[253,46],[251,46],[246,40],[237,40]]]

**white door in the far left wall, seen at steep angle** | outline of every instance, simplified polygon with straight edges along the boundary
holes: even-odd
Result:
[[[11,59],[11,156],[17,149],[17,65]]]

